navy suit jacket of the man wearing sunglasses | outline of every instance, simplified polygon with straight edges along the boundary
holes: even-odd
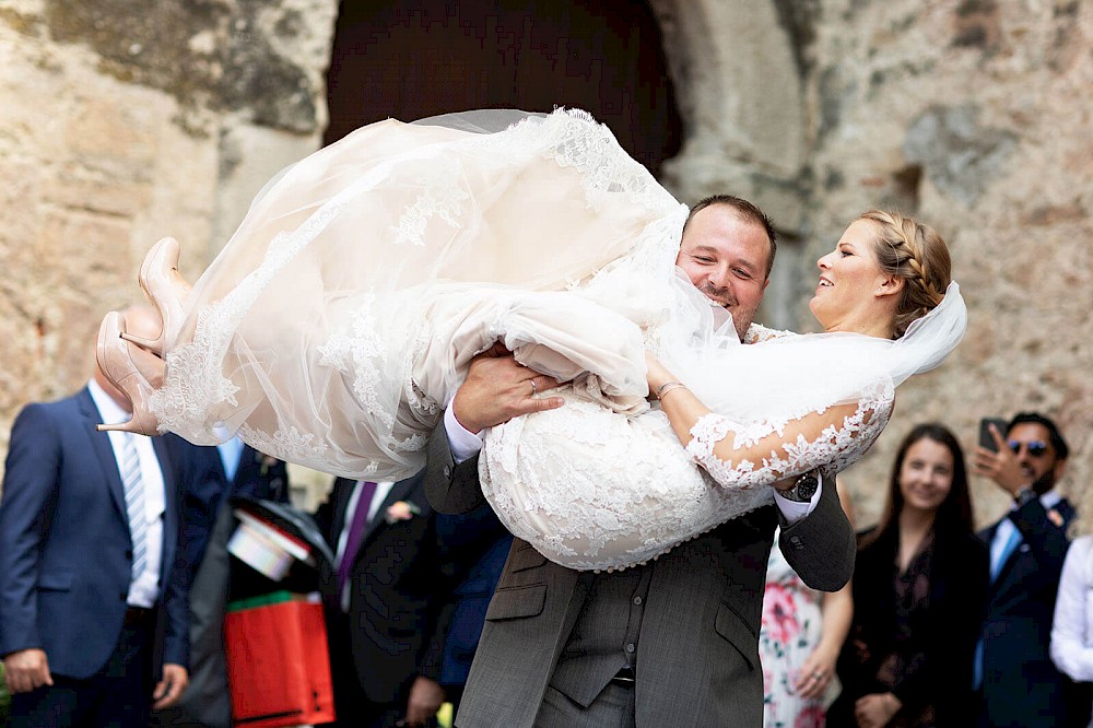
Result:
[[[1048,645],[1074,509],[1063,500],[1054,510],[1061,525],[1051,522],[1038,500],[1008,516],[1024,540],[987,590],[980,725],[1067,725],[1068,681],[1051,662]],[[996,530],[998,524],[979,535],[988,547]]]

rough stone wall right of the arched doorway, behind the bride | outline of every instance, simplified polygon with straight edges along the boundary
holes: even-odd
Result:
[[[1066,490],[1081,500],[1093,474],[1093,5],[825,0],[814,35],[808,258],[862,210],[903,209],[950,243],[971,319],[847,471],[859,520],[875,518],[913,424],[949,425],[971,454],[979,418],[1020,410],[1057,420]],[[814,278],[799,280],[806,318]],[[972,484],[980,522],[1007,507],[990,481]]]

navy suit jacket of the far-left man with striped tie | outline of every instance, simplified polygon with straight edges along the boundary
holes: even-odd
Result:
[[[42,648],[54,674],[87,678],[117,644],[132,541],[121,477],[84,388],[26,406],[11,432],[0,500],[0,655]],[[187,664],[185,587],[175,576],[179,479],[192,445],[153,438],[165,485],[156,666]]]

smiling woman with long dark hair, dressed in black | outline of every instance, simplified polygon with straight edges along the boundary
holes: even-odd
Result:
[[[915,426],[896,453],[880,524],[859,540],[828,726],[972,725],[987,564],[960,443],[940,424]]]

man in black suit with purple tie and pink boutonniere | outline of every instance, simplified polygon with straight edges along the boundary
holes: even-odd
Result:
[[[436,635],[450,575],[423,473],[396,483],[338,479],[318,514],[336,554],[321,575],[338,725],[432,725],[444,702]]]

